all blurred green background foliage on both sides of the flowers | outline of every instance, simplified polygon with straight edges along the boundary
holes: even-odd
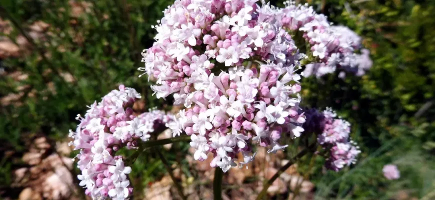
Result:
[[[352,136],[362,151],[354,167],[339,173],[324,172],[322,160],[317,160],[310,177],[317,186],[316,197],[388,199],[402,190],[410,196],[435,198],[426,196],[435,188],[431,167],[435,164],[435,2],[308,2],[331,21],[360,34],[373,59],[373,67],[362,77],[341,79],[331,74],[303,80],[304,105],[338,110],[352,123]],[[142,93],[142,111],[170,104],[152,97],[150,83],[146,77],[138,78],[136,70],[142,66],[141,50],[152,45],[151,25],[170,3],[0,0],[1,18],[15,21],[13,30],[0,36],[17,42],[18,35],[30,32],[33,22],[49,24],[42,37],[32,39],[35,44],[28,52],[0,60],[6,73],[27,74],[21,80],[0,75],[0,97],[19,96],[1,105],[0,152],[19,154],[25,151],[23,141],[38,134],[64,140],[67,130],[75,127],[75,115],[120,83]],[[272,3],[282,5],[280,0]],[[176,152],[168,152],[168,159],[176,160]],[[0,185],[10,182],[12,166],[6,160],[6,156],[0,160]],[[381,169],[387,163],[397,164],[402,178],[383,178]],[[141,178],[135,185],[142,186],[164,171],[152,154],[132,167],[131,175]]]

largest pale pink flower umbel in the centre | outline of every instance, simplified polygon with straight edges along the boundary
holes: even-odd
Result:
[[[256,0],[176,0],[154,26],[152,47],[139,68],[157,79],[158,98],[183,104],[167,126],[191,135],[194,158],[236,166],[253,159],[252,145],[276,152],[283,132],[299,136],[303,114],[298,52],[278,10]]]

